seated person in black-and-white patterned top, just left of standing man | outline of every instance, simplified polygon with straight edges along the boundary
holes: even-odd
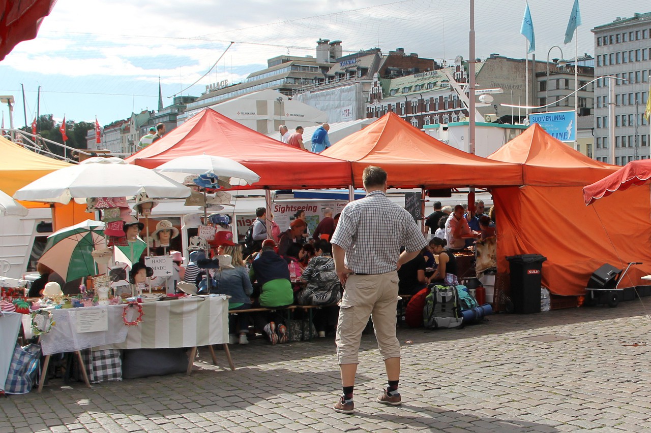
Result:
[[[314,327],[319,337],[326,336],[327,326],[334,328],[337,324],[339,307],[332,306],[341,299],[341,283],[335,271],[335,261],[332,258],[332,245],[325,239],[314,243],[316,256],[303,270],[301,283],[305,285],[296,294],[296,303],[299,305],[322,305],[314,311]]]

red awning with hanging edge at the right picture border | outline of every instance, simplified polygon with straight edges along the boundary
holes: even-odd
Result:
[[[602,197],[613,194],[616,190],[625,190],[633,185],[643,185],[651,179],[651,160],[631,161],[615,173],[583,188],[583,199],[589,205]]]

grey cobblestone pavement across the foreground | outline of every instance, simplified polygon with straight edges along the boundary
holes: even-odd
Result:
[[[213,366],[204,348],[189,377],[92,389],[52,380],[41,394],[0,399],[0,432],[651,432],[649,335],[639,300],[493,315],[462,330],[400,328],[400,407],[375,401],[385,376],[365,335],[354,415],[332,410],[332,338],[255,340],[231,348],[236,371]]]

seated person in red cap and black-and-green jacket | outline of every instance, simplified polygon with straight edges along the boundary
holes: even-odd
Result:
[[[272,239],[266,239],[262,243],[260,255],[251,264],[249,278],[251,282],[260,285],[260,296],[253,303],[253,308],[286,307],[294,302],[287,262],[274,252],[275,246]],[[267,335],[272,345],[288,341],[286,327],[278,313],[258,313],[254,315],[253,321],[256,328]]]

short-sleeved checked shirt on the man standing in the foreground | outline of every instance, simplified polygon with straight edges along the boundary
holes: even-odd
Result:
[[[331,242],[346,251],[344,264],[355,274],[391,272],[397,268],[400,246],[408,252],[426,246],[413,217],[381,190],[344,207]]]

